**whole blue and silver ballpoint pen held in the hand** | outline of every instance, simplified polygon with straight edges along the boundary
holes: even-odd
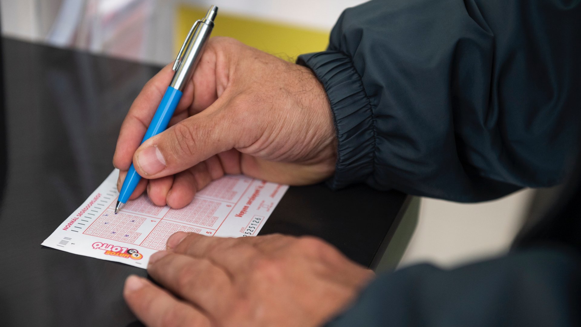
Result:
[[[189,30],[188,36],[185,38],[177,58],[175,58],[173,66],[175,72],[174,78],[171,80],[170,86],[167,87],[166,94],[163,95],[162,102],[157,107],[155,115],[153,115],[153,119],[141,143],[166,130],[167,124],[174,114],[175,107],[180,102],[182,91],[192,76],[193,70],[195,70],[199,58],[204,51],[204,45],[214,28],[214,19],[216,19],[217,13],[218,7],[211,6],[204,19],[196,20],[193,23],[192,29]],[[116,214],[123,204],[129,200],[139,180],[141,180],[141,176],[135,171],[135,167],[131,163],[131,167],[123,181],[123,187],[121,187],[121,191],[119,192],[119,200],[115,207]]]

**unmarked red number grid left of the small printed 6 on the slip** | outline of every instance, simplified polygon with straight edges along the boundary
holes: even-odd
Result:
[[[174,221],[213,227],[214,223],[218,220],[218,217],[214,216],[214,213],[216,213],[219,207],[220,202],[194,198],[192,203],[187,207],[167,212],[164,219],[173,219]]]

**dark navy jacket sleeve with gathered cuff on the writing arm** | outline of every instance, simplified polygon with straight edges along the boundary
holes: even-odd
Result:
[[[378,0],[345,10],[327,51],[298,61],[331,102],[331,187],[468,202],[559,183],[581,104],[580,7]]]

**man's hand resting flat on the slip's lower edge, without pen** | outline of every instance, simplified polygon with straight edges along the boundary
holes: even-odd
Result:
[[[151,327],[319,326],[374,276],[314,237],[178,232],[167,246],[148,266],[167,290],[130,276],[123,292]]]

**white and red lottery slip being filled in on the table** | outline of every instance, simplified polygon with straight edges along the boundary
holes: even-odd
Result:
[[[199,191],[182,209],[158,207],[146,194],[128,201],[119,214],[115,169],[42,245],[70,253],[146,268],[179,231],[206,236],[256,236],[288,186],[227,175]]]

